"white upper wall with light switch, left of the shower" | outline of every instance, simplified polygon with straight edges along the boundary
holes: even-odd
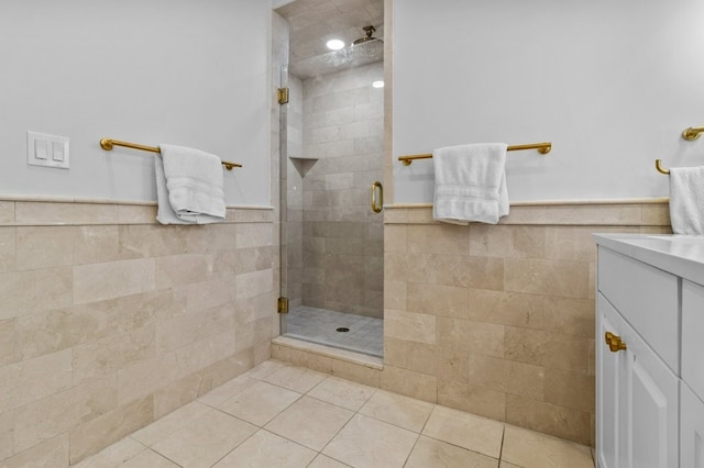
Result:
[[[271,204],[271,3],[2,0],[0,194],[155,200],[153,156],[102,136],[243,164],[229,204]],[[26,131],[70,137],[69,170],[26,165]]]

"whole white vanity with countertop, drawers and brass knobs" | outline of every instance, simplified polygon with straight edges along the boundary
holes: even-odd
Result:
[[[704,238],[595,238],[597,467],[704,468]]]

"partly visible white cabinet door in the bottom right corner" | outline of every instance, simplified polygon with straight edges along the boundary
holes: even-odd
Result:
[[[683,468],[704,468],[704,403],[682,385],[680,461]]]

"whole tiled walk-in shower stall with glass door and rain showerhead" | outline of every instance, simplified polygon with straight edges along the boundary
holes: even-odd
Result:
[[[336,1],[337,9],[383,4],[345,1]],[[346,34],[354,31],[356,38],[315,53],[312,36],[296,34],[297,22],[309,23],[304,13],[320,11],[339,27],[341,20],[331,18],[337,10],[320,1],[276,10],[290,23],[289,60],[280,69],[286,92],[279,93],[287,101],[279,129],[282,297],[288,304],[282,335],[381,357],[384,71],[383,41],[375,33],[383,21],[350,26]],[[383,9],[373,11],[383,19]]]

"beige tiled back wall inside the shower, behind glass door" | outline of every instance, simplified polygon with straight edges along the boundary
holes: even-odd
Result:
[[[370,188],[383,178],[383,63],[304,81],[302,302],[381,317],[383,218]]]

